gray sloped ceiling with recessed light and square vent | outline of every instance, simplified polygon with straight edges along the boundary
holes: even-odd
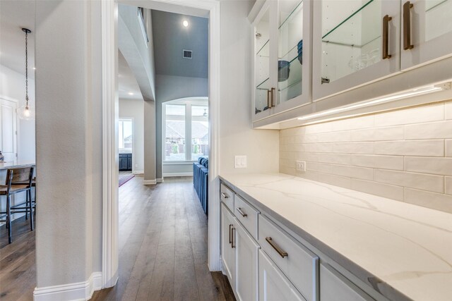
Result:
[[[155,73],[208,78],[208,18],[153,10],[152,20]],[[193,51],[193,59],[184,59],[183,49]]]

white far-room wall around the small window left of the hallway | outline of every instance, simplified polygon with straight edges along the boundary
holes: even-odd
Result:
[[[119,99],[119,118],[133,118],[133,173],[144,172],[143,110],[143,99]]]

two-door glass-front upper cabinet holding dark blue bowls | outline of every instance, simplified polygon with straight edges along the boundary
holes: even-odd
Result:
[[[253,121],[311,99],[311,1],[268,0],[253,22]]]

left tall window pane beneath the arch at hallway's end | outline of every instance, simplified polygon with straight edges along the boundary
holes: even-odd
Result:
[[[185,161],[185,104],[165,105],[165,161]]]

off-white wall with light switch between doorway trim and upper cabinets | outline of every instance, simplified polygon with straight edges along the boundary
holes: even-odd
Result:
[[[251,37],[254,1],[220,2],[220,175],[278,172],[279,131],[251,129]],[[234,168],[234,155],[247,168]]]

